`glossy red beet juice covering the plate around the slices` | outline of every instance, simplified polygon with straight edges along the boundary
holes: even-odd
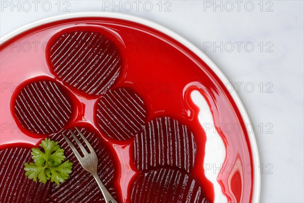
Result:
[[[230,164],[251,164],[252,155],[246,127],[231,95],[213,71],[193,52],[164,33],[138,23],[109,19],[81,18],[57,21],[35,27],[12,38],[1,47],[1,148],[8,146],[32,147],[44,137],[21,128],[13,118],[11,98],[20,83],[35,80],[34,77],[55,78],[50,71],[46,47],[48,41],[60,31],[81,26],[100,31],[110,38],[121,50],[122,70],[112,88],[125,87],[136,91],[147,108],[146,122],[170,116],[193,130],[198,144],[197,159],[193,175],[204,188],[207,198],[214,199],[211,182],[204,176],[204,154],[206,137],[198,121],[198,108],[190,93],[198,89],[208,99],[216,126],[225,123],[240,123],[239,130],[227,133],[218,129],[226,147],[224,166]],[[55,78],[56,79],[56,78]],[[60,82],[63,84],[62,82]],[[70,88],[71,89],[71,88]],[[75,107],[73,121],[86,121],[96,130],[93,108],[96,96],[80,96],[77,89],[71,91]],[[20,129],[18,129],[20,128]],[[109,147],[117,153],[116,186],[120,201],[128,202],[131,185],[137,175],[131,153],[132,140],[117,142],[100,133]],[[115,156],[116,157],[116,156]],[[248,171],[248,168],[247,168]],[[131,182],[130,182],[131,181]],[[253,173],[235,170],[220,173],[218,181],[231,202],[251,202]]]

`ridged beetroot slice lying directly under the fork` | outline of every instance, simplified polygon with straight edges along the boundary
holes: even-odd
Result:
[[[98,175],[105,185],[106,188],[110,188],[113,177],[114,177],[114,163],[113,157],[110,154],[107,146],[103,143],[98,133],[93,130],[92,127],[76,125],[76,127],[84,134],[85,138],[92,145],[98,157]],[[51,135],[49,138],[54,141],[58,141],[59,146],[64,149],[64,155],[69,161],[73,162],[72,173],[69,178],[61,183],[59,186],[53,185],[52,192],[50,194],[50,199],[56,203],[68,203],[68,202],[96,202],[101,198],[101,192],[93,179],[93,176],[86,172],[78,162],[75,155],[72,153],[71,149],[68,147],[66,141],[61,134],[67,136],[67,138],[72,142],[72,144],[78,149],[80,149],[76,142],[73,140],[71,130],[81,141],[81,143],[86,147],[85,143],[79,136],[75,128],[64,129],[60,133]]]

